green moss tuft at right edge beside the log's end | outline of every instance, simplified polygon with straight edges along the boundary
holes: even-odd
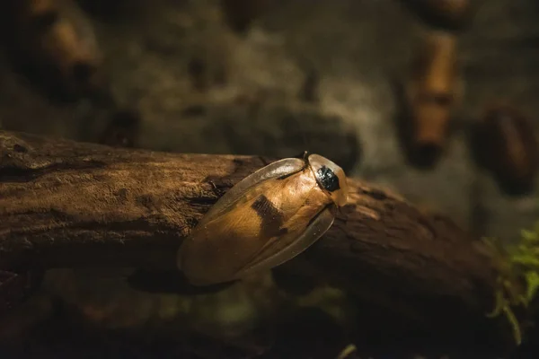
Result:
[[[503,314],[513,328],[513,335],[520,345],[522,329],[514,313],[517,307],[527,309],[539,288],[539,222],[532,231],[523,230],[517,245],[504,246],[496,239],[484,239],[494,253],[499,270],[496,304],[490,318]]]

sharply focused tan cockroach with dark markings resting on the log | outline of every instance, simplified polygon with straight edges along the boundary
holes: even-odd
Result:
[[[277,267],[317,241],[347,200],[344,171],[323,156],[273,162],[219,198],[182,243],[178,267],[191,285]]]

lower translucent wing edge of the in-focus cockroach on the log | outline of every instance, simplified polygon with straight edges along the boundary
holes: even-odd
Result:
[[[275,254],[268,258],[264,258],[261,261],[256,261],[255,259],[253,262],[249,263],[247,266],[238,271],[236,273],[236,277],[239,278],[250,275],[261,270],[269,270],[272,267],[277,267],[278,265],[295,258],[298,254],[302,253],[313,245],[315,241],[323,236],[323,233],[330,229],[331,224],[333,224],[333,221],[335,220],[333,211],[333,206],[327,206],[319,215],[316,216],[313,222],[305,228],[305,232],[303,232],[296,241],[292,241],[285,249],[278,250]]]

